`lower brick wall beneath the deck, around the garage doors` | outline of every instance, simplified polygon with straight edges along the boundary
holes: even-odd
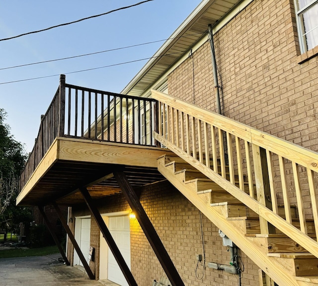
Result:
[[[223,271],[206,269],[203,280],[196,279],[196,254],[203,254],[200,227],[200,213],[182,194],[167,181],[142,188],[140,201],[152,221],[159,237],[186,285],[237,286],[237,276]],[[124,197],[114,195],[100,203],[101,213],[130,210]],[[83,208],[74,209],[73,216],[87,215]],[[222,245],[218,228],[202,215],[206,261],[229,264],[231,257],[227,247]],[[159,261],[144,235],[137,219],[130,220],[131,269],[139,286],[152,285],[154,279],[165,276]],[[91,221],[91,246],[96,249],[95,263],[90,264],[96,277],[99,273],[99,230]],[[245,271],[242,285],[258,286],[258,267],[241,253]],[[203,266],[199,265],[197,276],[202,276]]]

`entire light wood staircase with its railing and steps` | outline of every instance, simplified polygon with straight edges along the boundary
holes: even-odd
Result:
[[[159,171],[278,285],[317,285],[318,153],[152,96],[153,136],[177,155],[159,158]]]

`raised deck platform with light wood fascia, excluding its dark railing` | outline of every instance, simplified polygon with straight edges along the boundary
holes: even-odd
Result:
[[[17,197],[17,205],[83,203],[79,187],[93,199],[121,192],[113,178],[123,170],[133,187],[163,180],[157,158],[167,149],[151,146],[56,138]]]

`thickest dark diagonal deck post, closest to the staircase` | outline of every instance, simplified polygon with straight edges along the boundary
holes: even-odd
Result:
[[[129,183],[126,175],[122,171],[113,172],[121,190],[123,191],[131,209],[142,227],[150,245],[152,246],[167,278],[172,286],[184,286],[175,266],[173,265],[169,254],[165,250],[153,224],[147,216],[143,206],[141,205],[138,196],[133,187]]]

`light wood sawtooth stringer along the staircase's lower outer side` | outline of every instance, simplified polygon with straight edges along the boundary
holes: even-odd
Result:
[[[270,278],[278,285],[299,286],[291,270],[286,269],[273,257],[267,256],[265,240],[245,236],[245,222],[243,220],[228,220],[223,213],[225,206],[210,206],[209,193],[198,194],[194,183],[185,183],[183,174],[174,174],[174,166],[165,166],[164,157],[158,159],[159,172],[176,187],[194,206],[196,206],[212,223],[226,235]],[[312,285],[312,284],[308,284]]]

